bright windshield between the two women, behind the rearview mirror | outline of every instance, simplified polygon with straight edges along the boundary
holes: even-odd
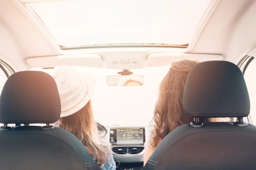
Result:
[[[144,76],[142,86],[108,86],[106,77],[121,70],[105,68],[73,67],[77,72],[90,73],[96,79],[91,99],[94,119],[108,126],[149,125],[158,97],[158,87],[170,66],[132,69],[134,75]],[[55,69],[38,69],[52,74]]]

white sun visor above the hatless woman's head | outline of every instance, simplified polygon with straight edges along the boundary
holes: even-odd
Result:
[[[218,54],[154,53],[148,55],[148,66],[164,66],[185,59],[203,62],[222,60],[223,56]]]

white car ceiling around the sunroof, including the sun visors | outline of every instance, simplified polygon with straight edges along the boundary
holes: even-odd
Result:
[[[71,61],[78,66],[118,69],[160,66],[177,58],[238,63],[256,46],[255,2],[213,0],[187,48],[116,47],[62,50],[24,3],[19,0],[2,0],[0,57],[15,71],[58,66]],[[159,53],[165,53],[165,57]],[[153,59],[148,57],[152,54],[155,57]],[[137,62],[113,63],[120,59]]]

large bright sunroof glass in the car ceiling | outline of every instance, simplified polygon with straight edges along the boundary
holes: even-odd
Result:
[[[188,44],[211,0],[27,2],[61,46]]]

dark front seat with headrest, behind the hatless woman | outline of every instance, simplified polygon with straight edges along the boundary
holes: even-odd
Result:
[[[250,99],[235,64],[196,64],[187,77],[183,104],[194,122],[170,132],[144,170],[256,169],[256,127],[243,122],[250,113]],[[202,117],[238,117],[239,121],[201,123]]]

